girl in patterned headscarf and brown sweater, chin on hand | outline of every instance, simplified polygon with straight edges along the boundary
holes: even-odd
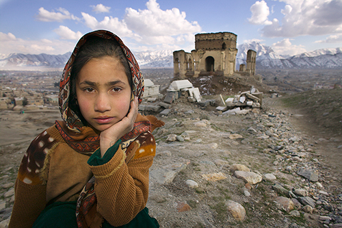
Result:
[[[27,149],[9,227],[159,227],[145,205],[150,132],[163,122],[137,113],[143,92],[118,36],[100,30],[79,40],[60,81],[63,121]]]

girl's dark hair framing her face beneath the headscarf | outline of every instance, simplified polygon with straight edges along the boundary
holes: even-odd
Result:
[[[122,66],[124,66],[124,72],[127,75],[129,86],[133,90],[133,81],[131,76],[131,68],[127,62],[127,58],[122,51],[122,48],[116,40],[109,40],[100,38],[98,36],[90,36],[87,38],[86,43],[82,45],[77,52],[76,58],[73,62],[73,66],[70,71],[70,97],[69,107],[71,110],[79,116],[83,124],[86,124],[86,120],[83,118],[79,105],[77,105],[76,97],[76,81],[81,68],[86,65],[93,58],[102,58],[110,56],[117,58]]]

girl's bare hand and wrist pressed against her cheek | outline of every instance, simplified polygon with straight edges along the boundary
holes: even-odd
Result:
[[[113,146],[116,141],[118,141],[122,136],[129,133],[129,131],[133,130],[135,118],[137,117],[138,110],[138,102],[137,97],[133,101],[131,101],[131,109],[129,110],[129,114],[124,116],[121,121],[112,125],[105,131],[102,131],[100,134],[100,149],[101,149],[101,157],[105,155],[105,152],[109,147]]]

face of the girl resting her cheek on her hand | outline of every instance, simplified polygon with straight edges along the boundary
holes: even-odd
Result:
[[[76,81],[79,109],[94,129],[104,131],[129,112],[131,86],[118,59],[93,58],[81,68]]]

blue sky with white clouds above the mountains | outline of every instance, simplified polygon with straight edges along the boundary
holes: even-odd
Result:
[[[342,47],[342,0],[0,0],[0,57],[73,51],[107,29],[131,51],[195,48],[194,35],[228,31],[280,55]]]

